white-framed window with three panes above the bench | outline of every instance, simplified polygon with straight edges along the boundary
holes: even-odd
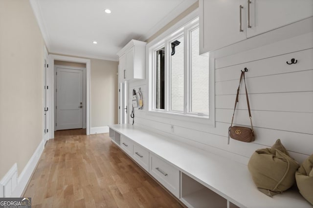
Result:
[[[214,87],[214,80],[209,76],[209,56],[199,55],[199,20],[156,41],[147,45],[149,111],[209,119],[209,98],[214,99],[209,84]]]

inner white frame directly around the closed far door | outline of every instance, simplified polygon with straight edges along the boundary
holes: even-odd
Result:
[[[54,89],[53,92],[56,92],[56,83],[57,83],[57,78],[56,78],[56,72],[57,72],[57,68],[58,67],[62,67],[64,69],[69,69],[69,70],[81,70],[83,71],[83,83],[82,83],[82,87],[83,87],[83,115],[82,115],[82,119],[83,119],[83,129],[86,129],[86,68],[85,67],[75,67],[75,66],[65,66],[65,65],[54,65]],[[54,94],[54,106],[56,106],[57,104],[57,95],[56,93]],[[55,109],[55,108],[54,108]],[[56,122],[57,119],[57,112],[54,111],[54,122]]]

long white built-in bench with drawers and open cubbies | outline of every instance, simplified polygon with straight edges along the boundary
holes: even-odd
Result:
[[[271,197],[246,165],[137,126],[111,125],[112,141],[189,208],[312,208],[295,189]]]

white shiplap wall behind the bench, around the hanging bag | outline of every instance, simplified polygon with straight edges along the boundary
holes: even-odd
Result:
[[[149,113],[147,81],[129,83],[129,106],[133,89],[138,91],[140,87],[143,93],[144,108],[135,109],[134,123],[244,164],[255,150],[270,147],[280,138],[291,156],[302,162],[313,153],[312,37],[313,33],[307,33],[216,59],[215,128]],[[286,61],[290,62],[291,58],[298,62],[288,65]],[[256,137],[253,143],[231,139],[227,145],[240,70],[245,67],[248,68],[246,85]],[[148,71],[146,73],[148,75]],[[244,93],[242,85],[234,123],[249,127]],[[129,122],[132,123],[132,118]]]

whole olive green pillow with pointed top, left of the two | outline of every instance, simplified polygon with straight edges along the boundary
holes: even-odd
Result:
[[[278,139],[271,148],[255,151],[248,169],[257,188],[268,196],[282,193],[294,184],[299,164]]]

